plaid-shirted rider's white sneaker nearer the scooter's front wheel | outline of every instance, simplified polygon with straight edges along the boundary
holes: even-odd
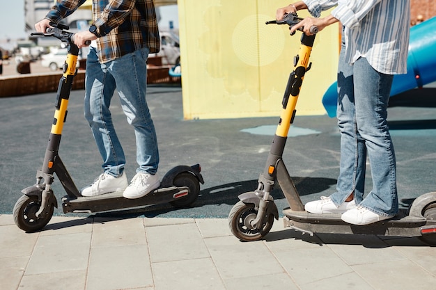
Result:
[[[102,195],[105,193],[113,193],[115,191],[124,191],[127,185],[127,177],[124,172],[119,177],[103,173],[95,179],[93,184],[81,188],[80,193],[82,196]]]

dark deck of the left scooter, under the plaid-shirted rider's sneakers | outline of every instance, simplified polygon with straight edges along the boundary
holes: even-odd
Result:
[[[186,186],[170,186],[157,188],[153,193],[135,199],[124,198],[123,191],[79,198],[70,198],[67,195],[62,199],[62,208],[64,214],[69,212],[96,213],[115,209],[146,207],[149,204],[162,204],[183,198],[188,194],[189,188]]]

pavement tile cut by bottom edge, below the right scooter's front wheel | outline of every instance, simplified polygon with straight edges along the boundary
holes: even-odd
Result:
[[[271,275],[256,275],[253,277],[224,280],[227,290],[297,290],[299,289],[286,273]],[[322,288],[320,288],[322,289]]]

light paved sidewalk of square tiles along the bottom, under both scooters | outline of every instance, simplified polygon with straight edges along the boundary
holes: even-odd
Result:
[[[226,219],[54,216],[26,234],[0,216],[2,290],[433,290],[436,248],[418,239],[302,235],[276,221],[238,241]]]

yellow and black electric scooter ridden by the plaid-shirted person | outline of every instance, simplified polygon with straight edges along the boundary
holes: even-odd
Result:
[[[22,190],[24,195],[15,203],[13,217],[16,225],[26,232],[36,232],[49,223],[53,216],[54,207],[58,207],[52,190],[54,173],[67,193],[62,199],[62,208],[65,214],[132,209],[166,202],[174,207],[189,207],[198,197],[200,183],[204,184],[199,164],[172,168],[162,177],[159,188],[142,198],[123,198],[122,191],[93,197],[81,196],[58,154],[63,124],[68,112],[72,81],[77,74],[76,63],[79,48],[74,43],[75,34],[68,32],[68,26],[54,23],[50,23],[50,25],[53,29],[47,29],[47,33],[32,34],[58,38],[68,48],[68,55],[63,65],[63,76],[59,81],[54,121],[42,168],[36,172],[36,184],[24,188]],[[90,43],[88,42],[86,45]]]

